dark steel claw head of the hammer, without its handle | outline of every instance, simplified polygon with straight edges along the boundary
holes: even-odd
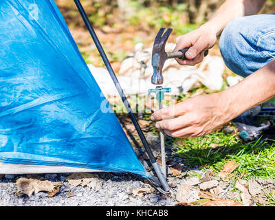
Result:
[[[166,30],[165,33],[164,30],[165,28],[160,28],[159,32],[157,33],[152,51],[152,66],[154,73],[151,78],[151,83],[155,85],[162,85],[163,83],[162,67],[164,66],[164,63],[167,58],[167,54],[165,52],[165,45],[168,36],[170,36],[170,33],[173,29],[168,28],[168,30]]]

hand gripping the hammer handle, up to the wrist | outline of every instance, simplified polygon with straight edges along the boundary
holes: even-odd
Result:
[[[196,65],[203,60],[204,51],[210,49],[217,42],[216,32],[209,28],[201,26],[188,34],[178,36],[176,39],[176,47],[173,52],[190,47],[186,52],[187,60],[182,61],[177,58],[176,61],[180,65]]]

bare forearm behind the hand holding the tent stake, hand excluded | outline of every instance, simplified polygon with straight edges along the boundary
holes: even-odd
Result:
[[[213,95],[219,96],[226,121],[270,100],[275,97],[275,59],[237,85]]]

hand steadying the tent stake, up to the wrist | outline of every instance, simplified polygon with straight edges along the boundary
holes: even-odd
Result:
[[[155,111],[151,115],[151,120],[160,120],[156,122],[156,128],[163,129],[172,137],[206,135],[232,119],[226,104],[221,103],[220,100],[219,94],[195,96]]]

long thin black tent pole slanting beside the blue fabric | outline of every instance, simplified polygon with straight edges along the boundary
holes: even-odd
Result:
[[[107,67],[107,70],[113,80],[113,83],[115,84],[116,89],[118,90],[118,94],[120,94],[120,98],[122,99],[122,102],[124,103],[126,110],[129,114],[129,117],[131,118],[133,125],[135,126],[135,129],[137,130],[138,135],[140,136],[140,140],[142,140],[142,144],[148,153],[148,157],[150,158],[150,162],[155,170],[155,173],[157,174],[157,177],[159,179],[160,184],[162,185],[162,188],[165,192],[169,192],[170,188],[168,186],[168,183],[166,181],[166,178],[162,174],[162,171],[159,167],[159,164],[157,163],[150,146],[148,145],[148,142],[144,136],[144,133],[142,132],[142,129],[140,128],[140,124],[138,124],[137,119],[135,118],[135,115],[133,114],[133,111],[130,107],[130,104],[124,94],[124,91],[122,90],[122,87],[120,86],[120,83],[118,81],[118,78],[115,76],[115,73],[113,72],[113,68],[111,67],[111,64],[109,63],[109,60],[102,48],[102,45],[100,44],[100,41],[98,40],[98,36],[96,36],[96,32],[94,31],[94,28],[91,26],[91,23],[89,22],[89,19],[87,17],[87,14],[81,5],[79,0],[74,0],[74,3],[76,3],[76,7],[78,8],[78,11],[81,14],[81,17],[83,18],[83,21],[91,34],[91,38],[93,39],[94,43],[96,44],[96,47],[98,49],[98,52],[100,53],[100,56],[104,62],[104,65]]]

